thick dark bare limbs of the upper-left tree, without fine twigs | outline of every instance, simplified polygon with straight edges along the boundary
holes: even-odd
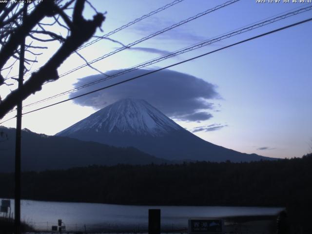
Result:
[[[88,41],[95,34],[97,28],[101,26],[102,22],[105,20],[103,14],[96,14],[93,20],[85,20],[83,18],[82,11],[84,3],[85,0],[76,0],[73,10],[73,20],[70,20],[63,12],[63,9],[56,5],[54,0],[44,0],[36,6],[32,13],[27,16],[26,22],[17,28],[16,32],[10,36],[7,43],[2,46],[0,50],[0,67],[3,67],[5,62],[12,57],[12,54],[18,49],[20,38],[28,35],[44,17],[54,17],[56,14],[59,14],[63,20],[66,19],[68,21],[66,22],[66,20],[64,20],[70,28],[70,35],[64,39],[58,51],[37,72],[31,74],[30,78],[21,88],[12,91],[2,100],[0,103],[0,118],[4,117],[6,113],[12,110],[19,100],[23,100],[41,90],[41,86],[45,82],[57,80],[59,78],[57,69],[63,61],[76,51],[79,46]],[[42,48],[33,45],[27,46],[28,48]],[[36,60],[25,59],[25,61]]]

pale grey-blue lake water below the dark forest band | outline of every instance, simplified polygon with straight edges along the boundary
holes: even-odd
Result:
[[[11,200],[14,212],[14,200]],[[148,209],[161,209],[163,228],[187,227],[194,217],[224,217],[242,215],[276,215],[283,208],[229,206],[130,206],[98,203],[21,201],[21,219],[36,230],[50,231],[62,219],[66,230],[144,230],[148,226]]]

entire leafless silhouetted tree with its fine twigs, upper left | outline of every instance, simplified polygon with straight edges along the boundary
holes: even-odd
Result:
[[[57,80],[60,64],[89,40],[101,26],[105,19],[101,13],[96,13],[93,20],[84,19],[82,11],[85,3],[90,4],[88,0],[33,0],[28,5],[29,13],[24,21],[21,20],[23,6],[18,1],[0,3],[0,85],[11,85],[10,73],[13,65],[19,60],[20,44],[24,37],[27,37],[25,51],[28,52],[24,73],[30,70],[32,63],[37,62],[36,57],[41,53],[36,50],[47,48],[36,43],[55,40],[60,42],[55,54],[33,72],[20,89],[13,90],[3,100],[0,98],[0,118],[12,110],[20,100],[41,90],[43,83]],[[71,11],[71,16],[68,11]],[[44,23],[46,18],[53,21]],[[50,27],[53,25],[59,25],[66,30],[66,37],[55,31],[58,27]],[[31,56],[32,58],[29,58]]]

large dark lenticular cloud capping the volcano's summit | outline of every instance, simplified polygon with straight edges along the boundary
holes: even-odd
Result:
[[[108,71],[112,75],[123,70]],[[115,83],[117,81],[136,77],[151,70],[139,69],[124,74],[120,78],[100,82],[72,93],[70,97],[78,96],[97,88]],[[89,76],[78,79],[75,86],[102,78],[102,75]],[[198,112],[207,112],[214,109],[212,100],[220,98],[216,86],[201,78],[171,70],[163,70],[146,77],[141,77],[109,89],[99,91],[88,96],[74,99],[74,102],[82,106],[92,106],[95,109],[106,107],[120,99],[137,98],[144,99],[158,108],[166,116],[185,121],[201,121],[212,117],[211,114],[198,115]]]

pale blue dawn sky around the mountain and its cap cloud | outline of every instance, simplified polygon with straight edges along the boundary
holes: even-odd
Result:
[[[110,38],[123,44],[129,44],[225,1],[184,0],[121,30]],[[107,33],[168,4],[171,0],[91,0],[91,2],[99,12],[107,11],[106,20],[102,25],[104,33]],[[166,51],[173,52],[258,20],[264,20],[293,8],[300,9],[309,4],[283,3],[283,0],[279,3],[256,3],[256,0],[240,0],[153,39],[139,43],[135,46],[138,47],[137,50],[122,51],[93,65],[102,72],[126,69],[154,59]],[[86,7],[85,16],[92,15],[94,12]],[[311,17],[312,10],[147,68],[164,67]],[[97,35],[104,33],[98,31]],[[213,103],[214,107],[204,110],[213,117],[200,122],[190,120],[176,122],[190,131],[195,131],[194,134],[198,137],[243,153],[281,158],[300,157],[309,153],[312,142],[311,42],[312,22],[307,22],[170,68],[171,71],[194,76],[214,85],[215,91],[219,95],[218,98],[208,99],[207,101]],[[35,64],[32,70],[37,69],[51,57],[58,48],[57,46],[58,43],[51,43],[49,49],[39,58],[39,63]],[[101,40],[79,53],[90,61],[117,47],[120,47],[117,43]],[[84,61],[77,55],[72,55],[61,65],[58,70],[59,74],[83,63]],[[42,91],[27,98],[23,103],[32,103],[66,91],[71,89],[79,78],[96,74],[98,73],[95,70],[85,67],[59,78],[53,83],[44,85]],[[83,82],[83,79],[81,80]],[[105,84],[105,82],[100,83],[95,88],[105,86]],[[179,95],[178,84],[176,87],[177,89],[171,94],[173,99]],[[4,89],[6,87],[0,87],[1,97],[3,93],[8,92]],[[62,96],[40,105],[24,108],[24,112],[68,97]],[[160,106],[156,107],[160,111],[164,111]],[[54,135],[97,110],[98,107],[92,106],[92,104],[81,106],[79,101],[76,103],[69,101],[25,115],[22,127],[37,133]],[[10,113],[2,120],[14,115],[14,113]],[[15,127],[15,119],[7,121],[3,125]],[[196,131],[196,129],[202,130]]]

